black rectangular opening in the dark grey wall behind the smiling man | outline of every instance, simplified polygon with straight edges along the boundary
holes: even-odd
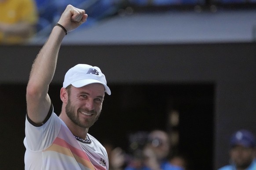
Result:
[[[102,143],[111,142],[131,154],[128,147],[130,134],[154,129],[168,131],[168,112],[178,110],[180,142],[177,150],[190,157],[188,161],[191,170],[198,167],[212,169],[214,85],[145,84],[110,87],[112,95],[106,96],[101,117],[89,130],[91,135]],[[12,120],[9,116],[1,114],[4,127],[1,128],[1,134],[6,137],[2,140],[2,145],[7,153],[2,155],[1,160],[11,160],[14,155],[18,160],[13,165],[3,162],[2,168],[22,169],[25,152],[22,140],[25,135],[26,85],[6,84],[0,88],[1,101],[4,101],[1,110],[15,116],[15,120]],[[51,85],[49,91],[57,114],[60,113],[62,104],[59,99],[60,88],[61,85]],[[16,96],[15,99],[13,96]],[[14,108],[18,108],[19,115],[14,113]],[[203,162],[197,161],[199,159]]]

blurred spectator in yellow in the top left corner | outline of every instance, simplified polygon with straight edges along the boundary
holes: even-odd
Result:
[[[35,32],[37,7],[33,0],[0,0],[0,44],[21,44]]]

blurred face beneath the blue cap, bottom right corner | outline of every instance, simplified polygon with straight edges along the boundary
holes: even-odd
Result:
[[[255,157],[255,149],[236,145],[230,150],[230,158],[239,169],[246,169]]]

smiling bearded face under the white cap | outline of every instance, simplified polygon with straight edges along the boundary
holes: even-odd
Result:
[[[104,86],[98,83],[81,88],[71,86],[66,105],[69,119],[79,127],[91,127],[101,113],[104,93]]]

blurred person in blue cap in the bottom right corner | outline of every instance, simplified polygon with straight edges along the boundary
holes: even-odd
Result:
[[[252,132],[235,132],[230,145],[230,165],[219,170],[256,170],[256,139]]]

